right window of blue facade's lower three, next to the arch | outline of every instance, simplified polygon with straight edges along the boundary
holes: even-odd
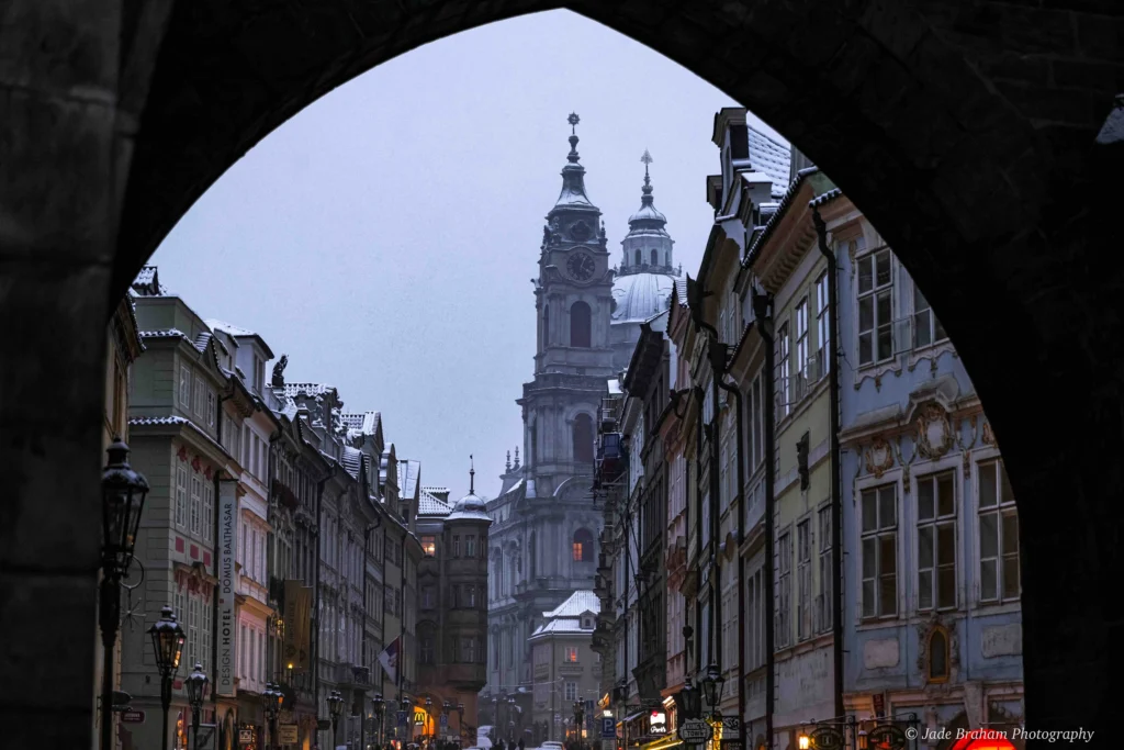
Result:
[[[1018,579],[1018,514],[1001,460],[979,464],[980,600],[1008,602]]]

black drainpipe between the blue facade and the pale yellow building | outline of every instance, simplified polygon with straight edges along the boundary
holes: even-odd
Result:
[[[832,352],[828,359],[828,377],[831,378],[828,391],[831,396],[831,424],[832,434],[832,578],[835,579],[834,596],[832,597],[832,638],[834,640],[835,658],[835,715],[843,716],[843,467],[841,464],[840,452],[840,374],[836,367],[836,352],[839,351],[839,315],[836,306],[839,304],[837,287],[837,264],[835,253],[827,246],[827,225],[819,216],[818,209],[813,209],[812,220],[816,225],[816,235],[819,238],[819,252],[827,259],[827,315],[831,326]]]

